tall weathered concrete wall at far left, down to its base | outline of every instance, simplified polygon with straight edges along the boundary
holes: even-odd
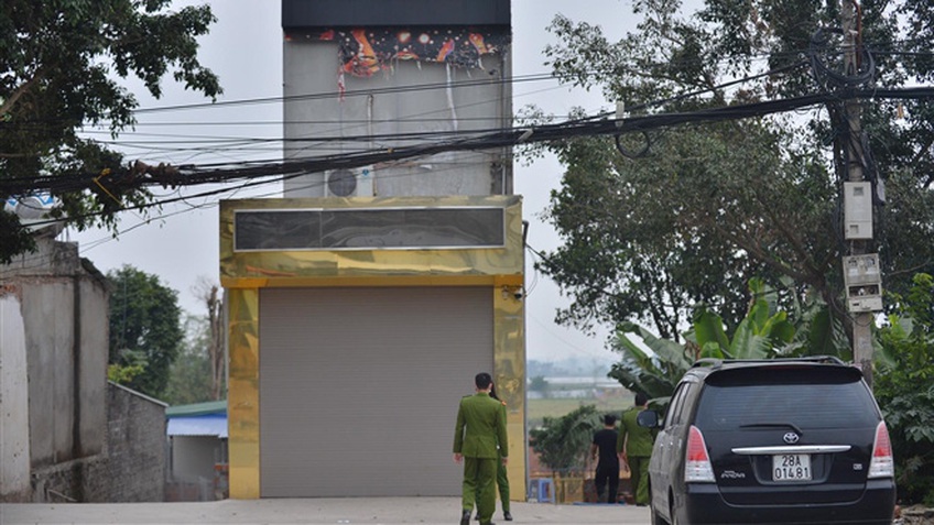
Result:
[[[25,358],[15,364],[11,352],[19,350],[6,343],[3,330],[2,353],[11,363],[3,367],[3,398],[17,404],[9,411],[4,404],[11,419],[9,428],[4,422],[4,439],[28,433],[28,446],[11,446],[28,453],[32,501],[106,501],[111,482],[106,472],[107,282],[78,256],[77,244],[46,234],[36,244],[35,252],[0,266],[3,291],[13,297],[4,318],[21,325]],[[10,472],[21,483],[22,468]],[[2,493],[13,497],[6,484]]]

